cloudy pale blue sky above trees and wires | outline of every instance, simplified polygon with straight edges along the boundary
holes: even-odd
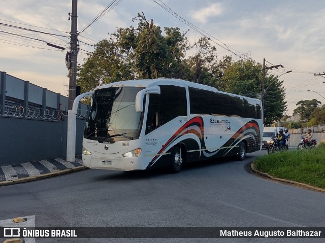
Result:
[[[78,31],[113,2],[79,0]],[[2,0],[1,5],[0,71],[68,96],[65,56],[70,42],[68,13],[72,12],[72,0]],[[325,75],[314,75],[325,72],[323,0],[118,0],[105,15],[82,31],[78,39],[94,45],[109,38],[108,33],[117,27],[137,25],[132,19],[138,12],[144,13],[147,20],[153,19],[161,29],[189,29],[187,37],[191,44],[202,37],[161,5],[203,30],[217,48],[220,60],[229,54],[234,60],[240,60],[240,56],[248,54],[259,63],[265,58],[267,66],[282,64],[284,68],[270,70],[269,74],[281,75],[288,115],[297,108],[299,100],[315,98],[325,103]],[[93,50],[82,42],[78,63],[83,63],[87,51]],[[47,43],[67,49],[52,48]],[[287,71],[292,72],[286,74]]]

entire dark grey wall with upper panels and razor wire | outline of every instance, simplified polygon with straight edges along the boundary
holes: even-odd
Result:
[[[0,71],[0,166],[67,156],[68,97]],[[87,106],[79,104],[76,155]]]

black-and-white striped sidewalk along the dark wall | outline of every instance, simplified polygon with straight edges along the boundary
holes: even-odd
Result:
[[[65,158],[64,158],[65,159]],[[85,169],[82,160],[48,159],[0,167],[0,186],[37,181]]]

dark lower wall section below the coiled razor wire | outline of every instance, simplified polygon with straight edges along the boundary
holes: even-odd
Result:
[[[67,156],[67,120],[0,117],[0,166]],[[76,155],[81,155],[85,119],[76,123]]]

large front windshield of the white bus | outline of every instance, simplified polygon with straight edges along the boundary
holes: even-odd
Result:
[[[123,141],[139,137],[142,113],[135,100],[141,87],[97,89],[90,100],[84,138],[97,141]]]

